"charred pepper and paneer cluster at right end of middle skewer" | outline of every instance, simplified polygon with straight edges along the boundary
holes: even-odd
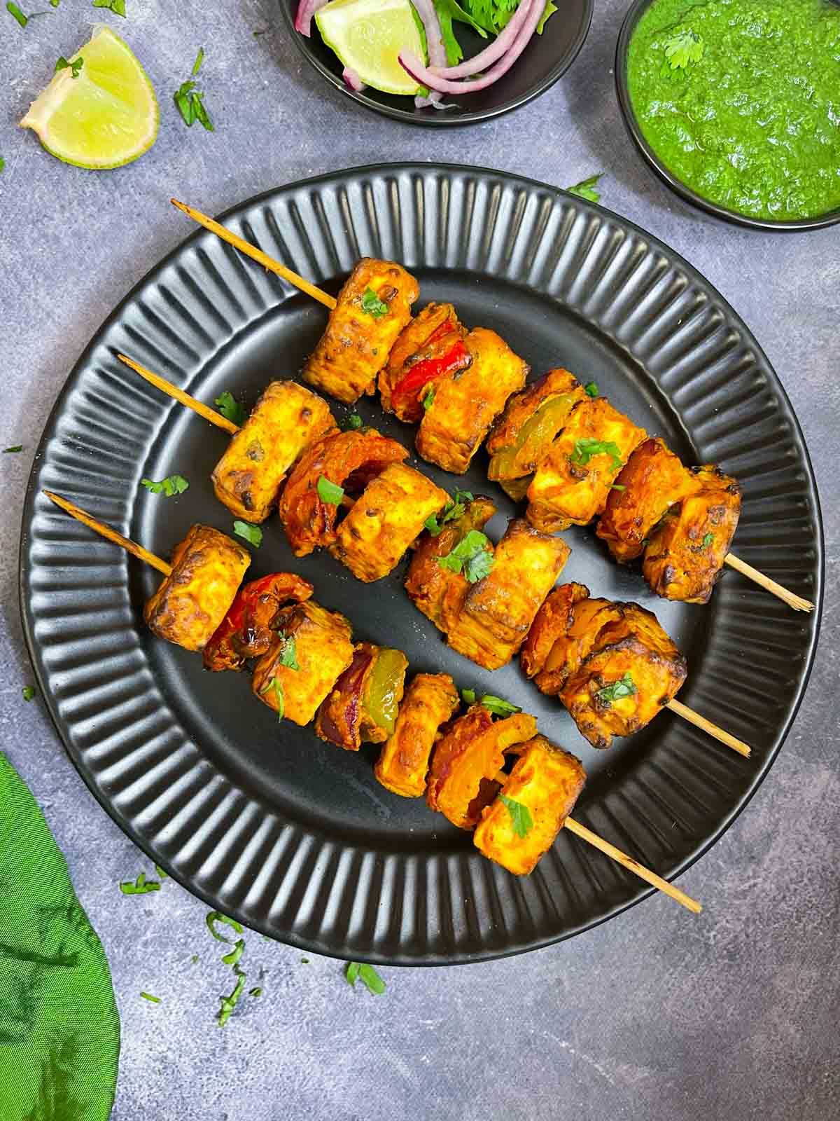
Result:
[[[538,612],[522,668],[559,696],[592,747],[632,735],[685,680],[685,659],[637,603],[590,599],[582,584],[557,589]]]

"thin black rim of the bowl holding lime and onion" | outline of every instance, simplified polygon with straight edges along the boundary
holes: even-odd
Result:
[[[286,20],[287,29],[295,39],[297,49],[304,58],[306,58],[310,66],[317,70],[318,73],[330,83],[330,85],[334,85],[335,89],[339,90],[345,96],[351,98],[365,109],[371,109],[375,113],[381,113],[383,117],[390,117],[391,120],[400,121],[403,124],[418,124],[421,128],[457,128],[463,124],[476,124],[479,121],[488,121],[495,117],[501,117],[503,113],[510,113],[514,109],[520,109],[522,105],[526,105],[529,101],[533,101],[534,98],[539,98],[541,94],[545,93],[547,90],[561,78],[580,54],[580,48],[584,46],[586,37],[589,34],[589,28],[592,24],[595,0],[582,0],[582,3],[584,19],[571,47],[566,52],[563,57],[556,63],[554,66],[552,66],[545,77],[543,77],[533,89],[521,94],[519,98],[514,98],[511,101],[505,102],[503,105],[498,105],[496,109],[485,109],[473,113],[458,111],[458,115],[454,115],[448,111],[444,112],[433,110],[429,113],[421,113],[416,110],[409,111],[408,109],[398,109],[393,105],[383,105],[374,98],[370,98],[364,93],[358,93],[355,90],[348,89],[340,75],[335,74],[328,66],[317,58],[311,50],[307,48],[307,45],[304,41],[306,37],[300,35],[295,29],[295,17],[287,0],[280,0],[279,7],[283,19]]]

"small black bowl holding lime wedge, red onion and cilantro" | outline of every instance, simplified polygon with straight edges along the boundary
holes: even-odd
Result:
[[[575,62],[589,31],[592,7],[594,0],[563,0],[560,10],[548,21],[542,35],[533,37],[508,73],[494,85],[461,99],[447,96],[447,100],[457,102],[457,108],[454,109],[416,109],[413,98],[400,98],[370,89],[362,93],[349,90],[342,78],[342,64],[321,41],[315,20],[312,20],[312,36],[307,39],[295,30],[298,0],[280,0],[289,33],[301,54],[337,90],[357,101],[360,105],[390,117],[394,121],[431,127],[486,121],[539,98]],[[458,24],[456,34],[466,58],[477,54],[491,41],[479,38],[466,24]]]

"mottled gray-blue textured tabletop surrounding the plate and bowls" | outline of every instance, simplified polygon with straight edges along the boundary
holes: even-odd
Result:
[[[99,175],[58,165],[13,128],[93,13],[65,0],[20,34],[0,13],[0,446],[27,445],[0,460],[0,742],[44,806],[111,961],[123,1022],[114,1119],[838,1117],[838,228],[754,234],[700,216],[653,182],[615,105],[623,0],[599,0],[577,64],[542,99],[446,135],[392,124],[321,85],[271,0],[128,7],[128,21],[112,21],[158,89],[161,135],[138,164]],[[214,136],[188,132],[169,98],[199,44]],[[707,902],[701,918],[651,899],[524,957],[386,970],[390,989],[379,1000],[351,991],[338,963],[302,964],[300,953],[252,935],[249,983],[264,994],[220,1032],[216,997],[230,974],[204,928],[205,908],[171,883],[119,895],[116,881],[148,862],[88,795],[39,703],[20,700],[29,679],[17,605],[20,500],[31,451],[85,343],[189,232],[170,194],[218,212],[290,179],[404,158],[558,185],[604,169],[604,203],[674,245],[731,300],[778,371],[814,458],[829,557],[820,654],[767,782],[682,878]],[[141,989],[164,1003],[140,1000]]]

